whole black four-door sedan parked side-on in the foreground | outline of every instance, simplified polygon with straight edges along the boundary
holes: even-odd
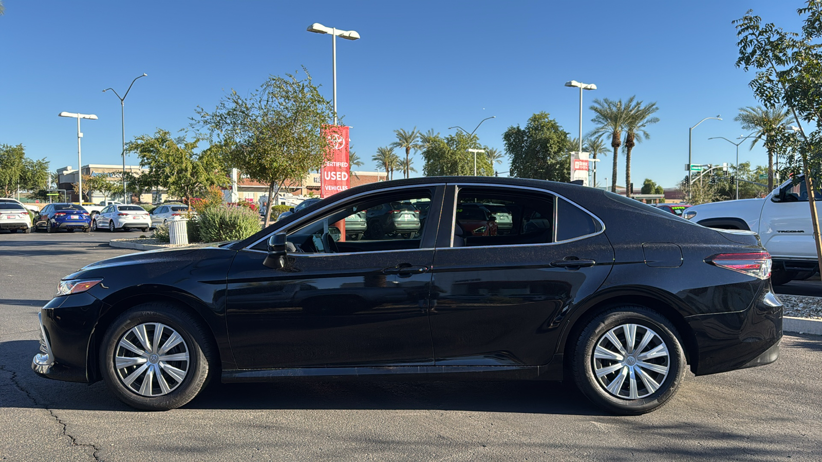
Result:
[[[362,210],[430,201],[419,233],[347,240]],[[473,235],[461,204],[513,227]],[[32,368],[173,409],[210,379],[572,380],[639,414],[685,378],[773,363],[782,305],[755,233],[610,192],[512,178],[380,182],[251,238],[134,253],[67,275]]]

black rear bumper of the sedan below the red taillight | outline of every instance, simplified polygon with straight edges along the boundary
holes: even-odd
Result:
[[[691,371],[704,376],[774,363],[782,339],[782,311],[771,285],[764,284],[744,311],[688,316],[698,349]]]

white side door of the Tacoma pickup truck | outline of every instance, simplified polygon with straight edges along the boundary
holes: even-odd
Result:
[[[816,201],[820,199],[817,192]],[[771,255],[816,259],[813,221],[804,179],[796,185],[788,182],[765,197],[759,233],[762,245]]]

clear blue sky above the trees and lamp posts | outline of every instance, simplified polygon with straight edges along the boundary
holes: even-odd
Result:
[[[76,166],[76,122],[61,111],[95,113],[84,121],[83,164],[119,164],[122,95],[126,138],[188,127],[197,105],[213,109],[231,89],[244,93],[270,74],[305,66],[331,98],[331,39],[306,31],[320,22],[357,30],[337,41],[338,110],[353,127],[354,150],[371,156],[396,128],[447,134],[473,127],[503,150],[506,128],[547,111],[573,136],[579,93],[566,81],[593,82],[584,94],[583,131],[593,98],[656,101],[661,122],[632,156],[635,185],[652,178],[673,187],[685,176],[688,127],[696,164],[733,163],[738,108],[757,104],[750,73],[734,67],[731,21],[747,9],[798,30],[798,0],[693,2],[31,2],[5,0],[0,16],[0,143],[23,144],[52,169]],[[744,133],[747,134],[747,133]],[[740,162],[765,164],[759,146]],[[205,146],[202,146],[205,147]],[[127,162],[136,164],[136,156]],[[611,177],[612,155],[600,181]],[[422,171],[416,156],[414,166]],[[508,169],[507,161],[496,166]],[[417,173],[419,175],[421,173]],[[620,155],[618,184],[625,182]]]

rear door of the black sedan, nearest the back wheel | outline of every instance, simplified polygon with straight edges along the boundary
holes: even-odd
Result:
[[[603,224],[540,189],[464,184],[445,197],[430,296],[436,365],[550,363],[561,321],[612,268]],[[506,207],[510,231],[455,225],[463,203],[482,202]]]

